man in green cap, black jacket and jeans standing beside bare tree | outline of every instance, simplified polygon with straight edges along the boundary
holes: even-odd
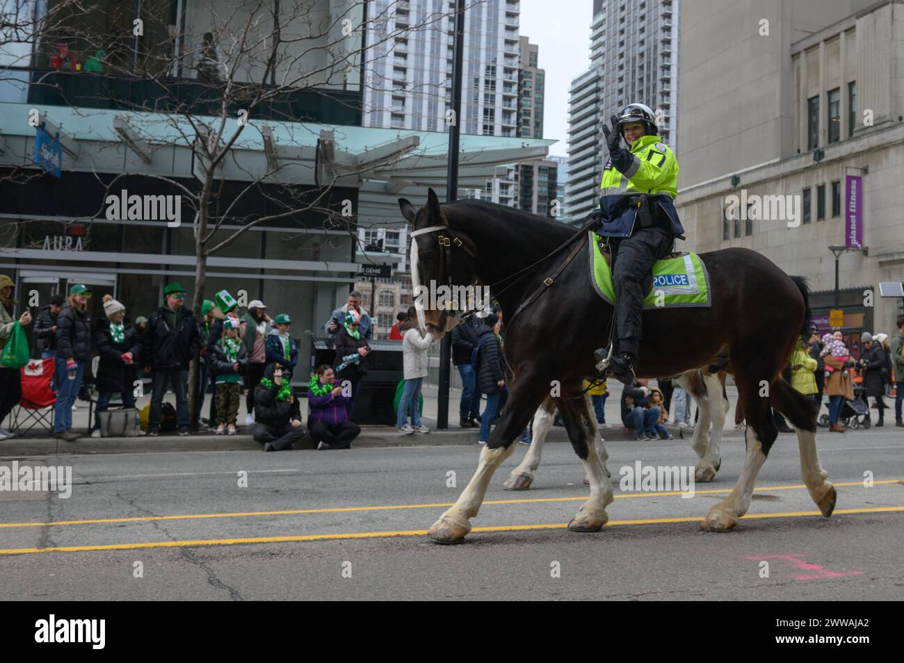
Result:
[[[147,321],[142,342],[142,363],[152,374],[153,395],[147,434],[159,433],[166,383],[173,385],[175,421],[180,435],[188,435],[188,364],[201,350],[201,331],[194,314],[183,304],[185,288],[171,283],[164,288],[165,304]]]

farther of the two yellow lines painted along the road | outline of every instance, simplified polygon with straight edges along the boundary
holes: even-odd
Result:
[[[873,481],[875,485],[899,483],[904,480],[887,479],[882,481]],[[842,483],[833,484],[836,487],[844,486],[862,486],[862,481],[844,481]],[[755,489],[756,492],[767,492],[768,490],[800,490],[806,486],[801,484],[791,486],[762,486]],[[694,490],[695,495],[711,495],[714,493],[731,492],[730,488],[719,488],[711,490]],[[634,493],[618,493],[616,499],[622,498],[643,498],[643,497],[668,497],[673,495],[683,495],[680,490],[669,492],[634,492]],[[567,497],[567,498],[528,498],[524,500],[486,500],[483,506],[490,504],[532,504],[538,502],[574,502],[587,500],[587,496]],[[348,511],[391,511],[395,509],[439,509],[453,506],[453,502],[443,502],[436,504],[390,504],[384,506],[373,507],[329,507],[325,509],[285,509],[280,511],[240,511],[237,513],[190,513],[176,516],[135,516],[131,518],[89,518],[82,520],[58,520],[50,523],[0,523],[0,528],[41,528],[56,527],[59,525],[102,525],[105,523],[138,523],[151,522],[155,520],[196,520],[200,518],[247,518],[249,516],[301,516],[315,513],[344,513]]]

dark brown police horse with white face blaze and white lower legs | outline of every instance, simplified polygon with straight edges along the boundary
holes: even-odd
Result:
[[[612,485],[593,444],[596,423],[580,394],[582,380],[595,376],[593,350],[606,342],[613,309],[590,284],[586,236],[551,255],[574,229],[491,202],[440,205],[432,189],[420,209],[405,199],[399,205],[413,227],[415,292],[440,285],[489,286],[505,315],[505,358],[515,374],[504,415],[480,454],[474,477],[428,536],[437,543],[464,539],[493,472],[511,455],[513,441],[551,392],[590,484],[589,500],[569,528],[598,531],[608,520]],[[579,244],[573,259],[557,273]],[[786,275],[746,248],[704,253],[701,259],[710,274],[711,307],[645,310],[637,367],[638,377],[654,378],[728,360],[725,369],[735,378],[748,421],[747,456],[734,490],[710,509],[701,527],[726,531],[747,512],[757,474],[777,437],[770,407],[794,425],[804,482],[828,517],[835,490],[816,454],[815,403],[781,377],[805,331],[807,287],[803,279]],[[526,266],[533,266],[526,277],[513,278]],[[454,311],[422,303],[416,301],[421,326],[435,338],[459,321]]]

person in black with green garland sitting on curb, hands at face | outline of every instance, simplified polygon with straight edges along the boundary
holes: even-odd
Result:
[[[301,425],[301,409],[295,388],[283,378],[279,364],[264,369],[254,388],[254,440],[264,445],[265,452],[281,452],[306,436]]]

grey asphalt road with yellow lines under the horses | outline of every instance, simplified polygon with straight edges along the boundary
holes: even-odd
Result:
[[[570,445],[547,445],[532,490],[502,490],[521,446],[494,477],[462,546],[433,545],[423,531],[466,485],[476,446],[15,459],[71,464],[73,485],[69,499],[0,492],[0,596],[904,599],[904,431],[820,433],[817,442],[838,489],[835,515],[807,515],[815,505],[800,481],[796,438],[785,434],[760,473],[749,517],[729,534],[703,533],[694,518],[737,479],[739,438],[723,444],[719,476],[697,484],[691,499],[616,485],[609,525],[589,534],[565,529],[587,495]],[[696,460],[683,441],[607,449],[614,482],[637,460]]]

